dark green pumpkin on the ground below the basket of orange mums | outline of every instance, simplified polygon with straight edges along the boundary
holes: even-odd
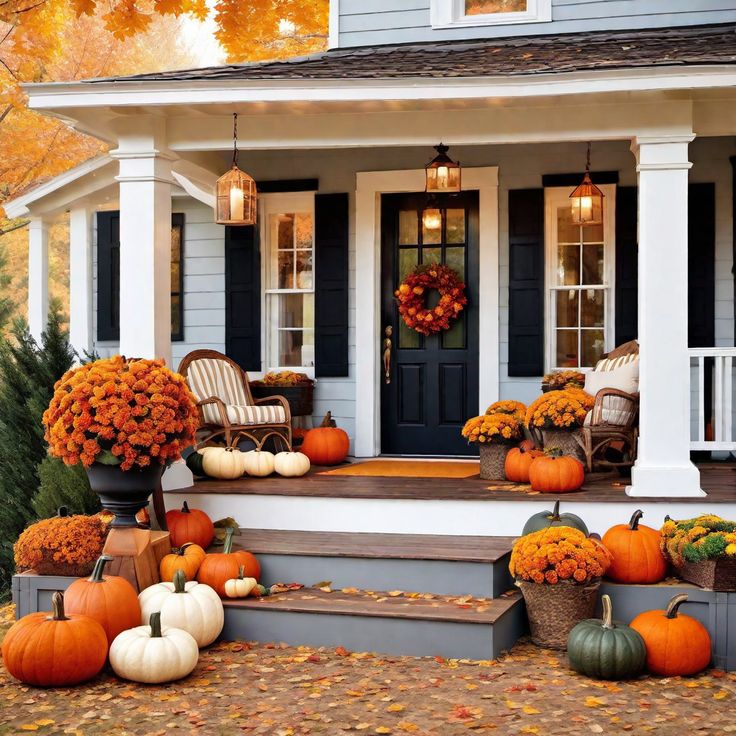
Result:
[[[567,638],[570,666],[581,675],[600,680],[636,677],[647,662],[647,648],[639,632],[613,620],[611,599],[604,595],[603,619],[581,621]]]

